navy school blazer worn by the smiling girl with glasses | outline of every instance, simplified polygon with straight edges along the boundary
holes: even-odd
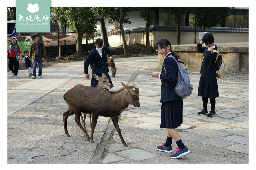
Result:
[[[173,53],[166,55],[163,62],[162,72],[160,74],[160,79],[162,81],[160,99],[161,103],[172,100],[182,100],[182,98],[180,98],[180,96],[178,96],[174,91],[178,76],[177,60],[175,61],[173,58],[167,57],[170,55],[173,56]]]

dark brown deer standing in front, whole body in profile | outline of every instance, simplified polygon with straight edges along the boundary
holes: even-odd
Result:
[[[121,82],[122,83],[122,82]],[[70,136],[67,129],[68,116],[75,114],[75,122],[84,132],[85,137],[91,143],[93,141],[93,133],[99,116],[110,117],[116,131],[124,146],[128,146],[122,137],[121,130],[118,125],[118,116],[128,107],[129,104],[134,107],[140,107],[139,89],[135,87],[135,82],[131,86],[123,84],[123,88],[119,91],[112,92],[100,90],[84,85],[75,85],[64,94],[64,100],[68,104],[68,111],[63,113],[64,130],[67,136]],[[91,136],[80,123],[80,115],[83,113],[92,113],[92,131]]]

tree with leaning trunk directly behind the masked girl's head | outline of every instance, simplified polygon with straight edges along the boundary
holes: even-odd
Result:
[[[112,12],[111,8],[112,7],[92,7],[93,13],[95,13],[95,15],[99,16],[102,40],[103,40],[104,45],[106,45],[107,47],[109,47],[110,45],[108,43],[108,34],[107,34],[104,19],[108,18],[108,16],[111,14],[111,12]]]

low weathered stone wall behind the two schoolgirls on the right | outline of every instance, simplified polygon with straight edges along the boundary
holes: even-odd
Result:
[[[248,42],[216,44],[217,49],[226,62],[226,71],[249,71]],[[201,68],[203,53],[197,52],[197,45],[172,45],[172,50],[179,55],[179,61],[184,62],[186,68]],[[158,65],[162,67],[164,57],[158,55]]]

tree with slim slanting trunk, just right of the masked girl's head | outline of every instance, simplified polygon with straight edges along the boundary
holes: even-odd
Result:
[[[108,20],[108,22],[112,24],[119,23],[125,56],[128,55],[128,48],[125,40],[123,24],[131,24],[131,21],[129,21],[129,18],[125,18],[129,10],[130,10],[130,7],[112,7],[111,14],[109,15],[109,20]]]

